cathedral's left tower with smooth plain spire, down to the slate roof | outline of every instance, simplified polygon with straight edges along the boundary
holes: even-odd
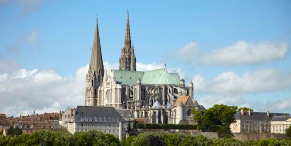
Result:
[[[104,68],[101,54],[98,19],[96,19],[95,35],[93,40],[89,70],[86,75],[85,106],[97,105],[98,88],[103,82]]]

